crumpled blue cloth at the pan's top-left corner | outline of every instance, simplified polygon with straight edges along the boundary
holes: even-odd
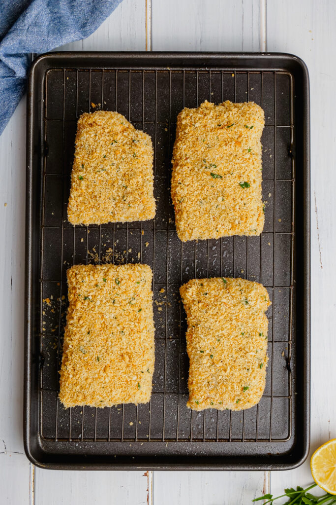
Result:
[[[30,53],[88,37],[121,0],[0,0],[0,135],[26,89]]]

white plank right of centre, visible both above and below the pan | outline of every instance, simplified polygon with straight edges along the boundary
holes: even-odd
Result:
[[[152,0],[152,44],[153,51],[259,51],[259,3]],[[268,492],[268,481],[263,472],[154,472],[153,499],[155,505],[248,503]]]

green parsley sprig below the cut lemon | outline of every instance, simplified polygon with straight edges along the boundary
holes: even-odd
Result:
[[[336,495],[325,493],[322,496],[315,496],[314,494],[309,493],[308,491],[313,487],[316,487],[317,484],[311,484],[310,486],[303,489],[303,487],[297,486],[296,489],[290,487],[285,489],[285,494],[281,494],[280,496],[273,497],[273,494],[264,494],[263,496],[259,496],[259,498],[254,498],[252,501],[266,500],[264,501],[264,505],[266,503],[270,503],[273,505],[275,500],[279,498],[283,498],[284,496],[288,497],[288,501],[284,503],[284,505],[314,505],[314,504],[322,504],[324,505],[332,505],[336,503]]]

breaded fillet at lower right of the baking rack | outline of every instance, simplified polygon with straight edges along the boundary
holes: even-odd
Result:
[[[180,293],[187,315],[187,407],[249,409],[260,400],[267,365],[266,289],[245,279],[192,279]]]

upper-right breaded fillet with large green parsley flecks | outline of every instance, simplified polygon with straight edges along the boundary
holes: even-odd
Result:
[[[209,102],[177,118],[171,196],[182,241],[259,235],[263,110]]]

